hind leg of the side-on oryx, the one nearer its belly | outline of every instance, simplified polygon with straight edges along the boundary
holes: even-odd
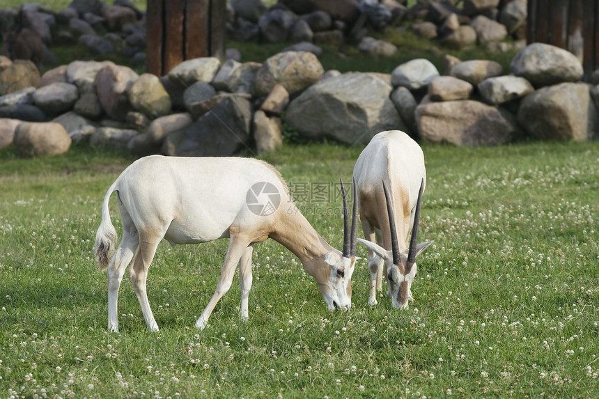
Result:
[[[158,324],[154,319],[150,302],[148,301],[148,292],[146,291],[146,280],[148,278],[148,269],[154,258],[160,238],[154,240],[144,240],[143,235],[139,240],[139,248],[133,259],[133,266],[129,269],[129,278],[137,295],[141,313],[146,320],[148,331],[158,331]]]

